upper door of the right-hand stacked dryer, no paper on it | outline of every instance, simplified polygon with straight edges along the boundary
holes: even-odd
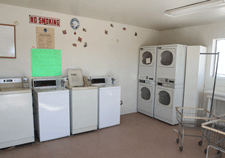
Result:
[[[164,68],[173,68],[176,62],[176,49],[159,49],[158,66]]]

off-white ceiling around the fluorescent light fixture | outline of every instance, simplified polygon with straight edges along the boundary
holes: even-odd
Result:
[[[225,21],[225,7],[177,18],[164,11],[203,0],[0,0],[0,3],[48,10],[155,30]]]

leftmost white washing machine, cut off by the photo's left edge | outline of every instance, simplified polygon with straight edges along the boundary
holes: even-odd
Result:
[[[22,78],[0,79],[0,149],[34,142],[31,89]]]

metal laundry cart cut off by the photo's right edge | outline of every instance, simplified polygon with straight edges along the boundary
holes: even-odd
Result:
[[[217,119],[202,124],[202,135],[208,140],[208,147],[205,150],[206,158],[209,156],[209,148],[217,150],[216,157],[222,157],[225,153],[225,120]]]

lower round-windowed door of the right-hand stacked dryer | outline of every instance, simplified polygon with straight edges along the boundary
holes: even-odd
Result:
[[[157,104],[172,108],[172,100],[173,100],[173,91],[172,90],[167,90],[164,88],[156,88],[156,94],[157,94]]]

